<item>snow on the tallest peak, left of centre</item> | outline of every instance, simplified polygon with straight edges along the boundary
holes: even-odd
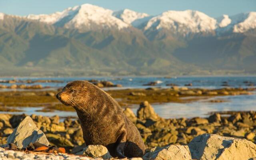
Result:
[[[84,26],[91,28],[94,24],[105,28],[116,27],[118,29],[130,26],[126,22],[112,16],[112,13],[112,10],[99,6],[82,4],[81,6],[67,8],[62,12],[40,15],[30,14],[26,18],[66,28],[82,28]]]

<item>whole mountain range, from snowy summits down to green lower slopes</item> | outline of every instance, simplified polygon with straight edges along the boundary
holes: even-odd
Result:
[[[0,13],[0,76],[255,74],[255,44],[256,12]]]

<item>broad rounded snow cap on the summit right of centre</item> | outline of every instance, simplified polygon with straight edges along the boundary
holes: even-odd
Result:
[[[183,33],[207,32],[216,29],[216,20],[199,11],[169,10],[151,18],[144,30],[152,27],[157,30],[161,28],[173,29]]]

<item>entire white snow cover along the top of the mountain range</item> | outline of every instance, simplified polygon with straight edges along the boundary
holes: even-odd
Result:
[[[4,19],[4,15],[0,13],[0,20]],[[145,32],[164,28],[170,30],[171,33],[184,36],[190,33],[214,31],[217,34],[224,32],[243,33],[256,28],[256,12],[212,18],[196,10],[169,10],[157,16],[150,16],[129,9],[113,11],[92,4],[69,7],[52,14],[30,14],[23,17],[12,17],[27,18],[73,29],[115,28],[120,30],[133,26]]]

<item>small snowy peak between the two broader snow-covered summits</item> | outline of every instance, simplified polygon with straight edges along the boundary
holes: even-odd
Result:
[[[113,16],[123,20],[124,22],[126,22],[128,24],[132,24],[132,22],[134,22],[135,20],[138,20],[138,19],[141,19],[144,17],[148,17],[149,15],[146,13],[139,13],[139,12],[135,12],[133,10],[124,9],[124,10],[119,10],[119,11],[113,12]]]

